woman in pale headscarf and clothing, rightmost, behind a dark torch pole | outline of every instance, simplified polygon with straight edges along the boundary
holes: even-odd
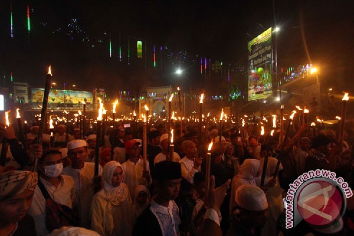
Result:
[[[279,216],[284,211],[283,205],[283,192],[284,190],[279,185],[278,175],[273,180],[273,175],[275,173],[276,164],[278,159],[274,157],[269,157],[267,162],[267,168],[265,170],[265,177],[264,177],[264,186],[265,186],[265,196],[267,197],[268,201],[268,218],[267,221],[262,229],[261,235],[278,235],[277,229],[277,221]],[[262,178],[262,170],[264,165],[264,158],[260,160],[260,167],[259,167],[259,177],[256,179],[257,186],[260,186],[261,178]],[[279,171],[283,169],[282,165],[279,166]],[[275,183],[273,183],[275,182]]]

